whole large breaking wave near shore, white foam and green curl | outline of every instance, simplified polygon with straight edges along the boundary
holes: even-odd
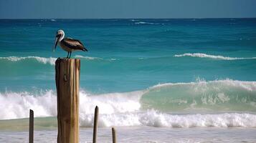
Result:
[[[0,119],[29,117],[29,109],[35,117],[57,116],[54,90],[4,92],[0,101]],[[80,126],[93,127],[96,105],[100,127],[256,127],[256,82],[226,79],[158,84],[125,93],[80,91]]]

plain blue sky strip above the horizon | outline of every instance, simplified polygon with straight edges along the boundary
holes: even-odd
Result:
[[[256,0],[0,0],[0,19],[256,17]]]

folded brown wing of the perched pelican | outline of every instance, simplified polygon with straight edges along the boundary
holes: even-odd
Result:
[[[63,41],[63,44],[65,44],[65,46],[70,47],[71,49],[76,49],[76,50],[85,49],[85,46],[82,44],[82,42],[77,39],[65,38],[62,41]]]

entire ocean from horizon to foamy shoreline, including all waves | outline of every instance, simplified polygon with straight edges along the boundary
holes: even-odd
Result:
[[[80,142],[256,142],[256,19],[1,19],[0,142],[56,142],[52,51],[80,39]]]

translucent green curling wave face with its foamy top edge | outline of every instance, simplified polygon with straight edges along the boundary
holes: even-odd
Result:
[[[146,90],[141,106],[166,112],[254,112],[256,82],[226,79],[158,84]]]

